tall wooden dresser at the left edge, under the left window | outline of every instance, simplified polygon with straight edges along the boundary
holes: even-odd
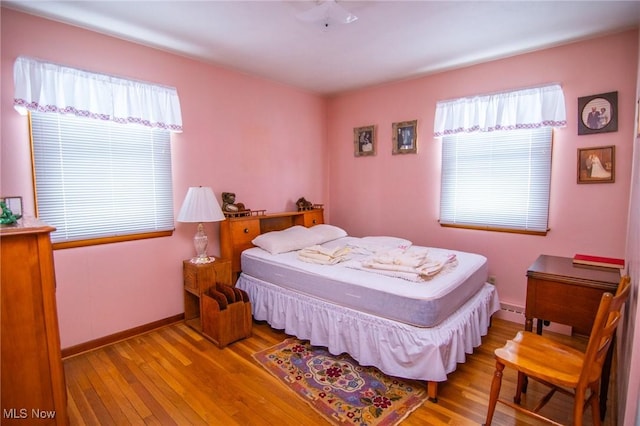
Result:
[[[33,219],[0,228],[3,425],[69,423],[53,230]]]

